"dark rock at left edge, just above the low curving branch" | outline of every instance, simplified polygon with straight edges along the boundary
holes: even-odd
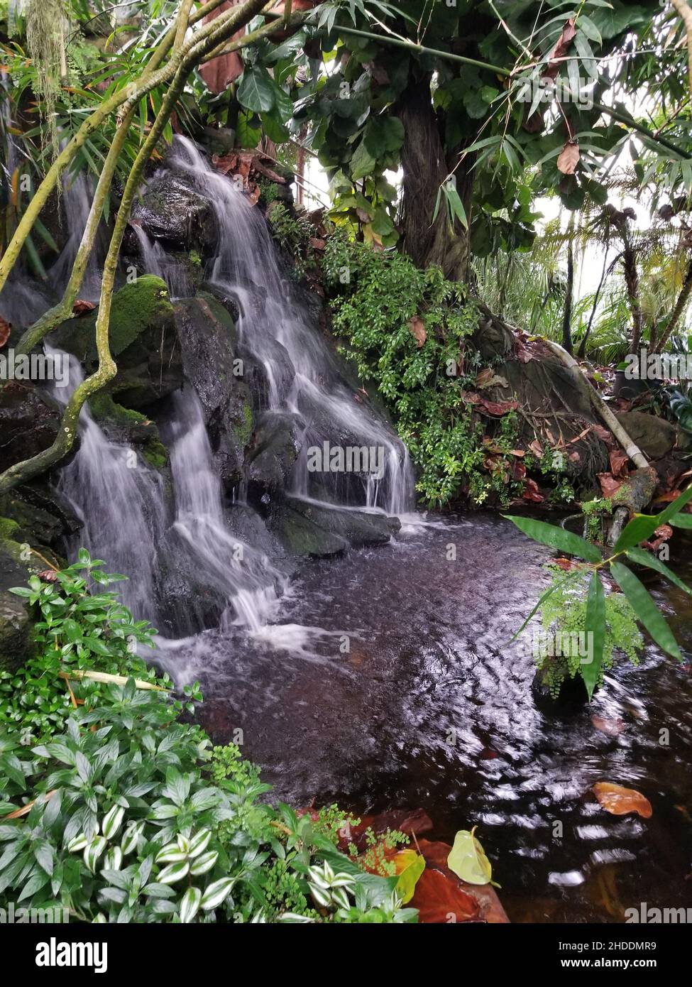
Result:
[[[34,385],[15,380],[0,387],[0,472],[51,446],[60,418]]]

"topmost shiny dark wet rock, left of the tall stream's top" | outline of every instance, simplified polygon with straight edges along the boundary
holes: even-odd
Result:
[[[155,176],[132,209],[132,220],[173,250],[210,253],[216,243],[211,202],[192,182],[174,172]]]

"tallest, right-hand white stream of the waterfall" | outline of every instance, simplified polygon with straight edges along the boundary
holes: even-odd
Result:
[[[218,246],[209,279],[238,305],[241,341],[265,369],[269,410],[303,423],[294,495],[325,500],[323,491],[314,487],[305,456],[309,446],[335,440],[381,449],[384,475],[362,476],[362,491],[354,497],[338,477],[321,474],[322,483],[330,486],[327,499],[389,514],[413,509],[413,471],[406,448],[347,387],[328,344],[298,301],[295,285],[281,273],[262,213],[186,137],[176,137],[167,167],[192,179],[213,206]]]

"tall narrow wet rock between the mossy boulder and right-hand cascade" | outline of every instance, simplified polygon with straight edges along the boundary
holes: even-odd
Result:
[[[174,308],[186,377],[201,402],[216,467],[226,487],[234,487],[243,478],[254,427],[235,323],[218,299],[204,292],[180,299]]]

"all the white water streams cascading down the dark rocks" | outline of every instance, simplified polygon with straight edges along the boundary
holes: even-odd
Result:
[[[166,167],[183,173],[188,182],[192,179],[213,206],[218,245],[209,263],[210,282],[234,300],[239,341],[264,368],[260,411],[290,418],[299,434],[301,450],[290,490],[284,493],[321,507],[389,514],[410,510],[413,473],[406,449],[368,406],[356,401],[294,287],[282,277],[259,210],[185,138],[176,138]],[[73,193],[75,201],[79,191]],[[71,229],[65,257],[78,243],[74,216]],[[176,280],[175,259],[136,223],[133,229],[147,272],[166,277],[174,296],[188,290]],[[76,386],[79,367],[73,364],[71,370]],[[65,399],[65,391],[61,397]],[[60,493],[84,522],[82,544],[111,569],[129,576],[123,595],[137,617],[155,621],[169,638],[180,639],[178,644],[162,639],[161,653],[173,651],[179,660],[181,650],[203,650],[202,641],[191,645],[191,636],[216,626],[227,634],[240,627],[257,641],[314,657],[306,645],[324,632],[272,623],[287,577],[257,547],[261,532],[269,537],[259,516],[253,515],[257,542],[252,535],[247,540],[236,537],[229,523],[204,413],[191,384],[173,396],[166,417],[162,428],[172,479],[168,496],[160,474],[135,450],[109,438],[87,409],[83,412],[80,450],[59,480]],[[379,472],[373,475],[365,468],[345,481],[323,471],[316,479],[307,448],[330,442],[378,449]]]

